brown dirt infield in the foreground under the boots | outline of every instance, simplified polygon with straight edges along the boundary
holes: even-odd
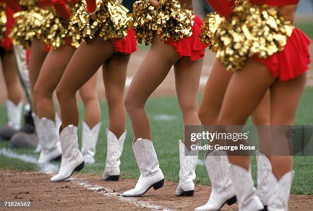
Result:
[[[177,183],[166,181],[162,189],[127,201],[128,198],[121,197],[120,193],[135,186],[136,179],[107,182],[100,180],[100,175],[76,174],[74,177],[92,187],[98,186],[98,189],[88,190],[73,181],[50,183],[50,175],[38,172],[0,170],[0,201],[32,201],[33,206],[27,210],[193,210],[207,201],[211,190],[209,186],[196,185],[194,197],[176,197]],[[113,190],[110,194],[114,196],[106,194],[107,189]],[[312,210],[313,196],[292,195],[290,198],[289,210]],[[236,210],[236,205],[226,205],[222,210]]]

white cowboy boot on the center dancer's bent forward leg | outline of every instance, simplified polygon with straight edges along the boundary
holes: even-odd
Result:
[[[164,176],[159,168],[158,157],[151,140],[138,138],[132,143],[132,149],[140,170],[140,177],[135,188],[124,192],[123,196],[142,196],[151,187],[154,190],[160,189],[164,184]]]

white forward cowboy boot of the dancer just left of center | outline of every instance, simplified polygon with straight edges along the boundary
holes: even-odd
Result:
[[[84,157],[78,149],[77,127],[69,125],[60,134],[62,147],[62,161],[57,175],[51,177],[50,182],[68,179],[74,171],[84,168]]]

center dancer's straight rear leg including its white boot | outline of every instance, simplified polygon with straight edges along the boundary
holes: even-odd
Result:
[[[174,64],[175,86],[184,120],[184,142],[179,141],[180,148],[180,182],[176,189],[176,196],[193,196],[195,168],[198,159],[198,150],[186,156],[186,149],[191,152],[191,145],[199,145],[191,142],[191,133],[201,131],[201,123],[197,115],[198,90],[202,72],[203,58],[191,61],[189,57],[183,57]],[[188,127],[189,126],[189,130]],[[192,128],[191,128],[192,127]],[[184,173],[183,173],[184,172]]]

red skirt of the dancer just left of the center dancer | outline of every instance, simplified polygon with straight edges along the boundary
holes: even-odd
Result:
[[[127,32],[127,36],[123,39],[111,39],[114,45],[115,53],[120,52],[124,54],[132,54],[137,51],[137,40],[135,38],[135,32],[130,28]]]

